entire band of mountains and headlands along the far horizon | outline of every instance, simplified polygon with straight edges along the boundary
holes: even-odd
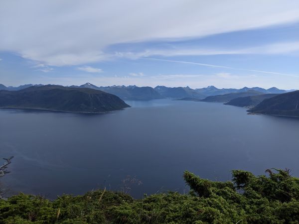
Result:
[[[201,89],[189,87],[97,87],[90,83],[81,86],[27,84],[5,87],[0,84],[0,108],[30,108],[65,112],[108,112],[130,107],[123,100],[179,99],[186,101],[218,102],[251,108],[249,112],[299,116],[299,91],[275,87]],[[121,99],[122,100],[121,100]]]

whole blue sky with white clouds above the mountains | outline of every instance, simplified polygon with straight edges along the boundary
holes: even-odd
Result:
[[[0,83],[299,89],[298,0],[1,0]]]

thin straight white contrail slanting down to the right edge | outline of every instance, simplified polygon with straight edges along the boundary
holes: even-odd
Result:
[[[299,77],[298,75],[292,75],[292,74],[286,74],[286,73],[268,72],[268,71],[260,71],[260,70],[253,70],[253,69],[242,69],[242,68],[234,68],[234,67],[229,67],[229,66],[204,64],[204,63],[197,63],[197,62],[190,62],[190,61],[176,61],[176,60],[167,60],[167,59],[159,59],[159,58],[144,58],[144,59],[175,62],[175,63],[184,63],[184,64],[192,64],[192,65],[200,65],[200,66],[206,66],[206,67],[212,67],[212,68],[226,68],[226,69],[249,71],[249,72],[260,72],[260,73],[266,73],[266,74],[282,75],[282,76],[297,77],[297,78]]]

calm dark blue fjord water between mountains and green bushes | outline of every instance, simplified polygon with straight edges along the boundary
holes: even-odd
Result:
[[[142,197],[183,192],[184,170],[211,180],[272,167],[299,176],[299,119],[217,103],[127,103],[92,115],[1,110],[0,156],[15,158],[0,181],[11,194],[55,198],[106,187]]]

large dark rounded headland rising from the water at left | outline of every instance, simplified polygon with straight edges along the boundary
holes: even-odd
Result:
[[[19,91],[0,90],[0,108],[63,112],[108,112],[130,107],[119,97],[89,88],[57,85],[31,86]]]

